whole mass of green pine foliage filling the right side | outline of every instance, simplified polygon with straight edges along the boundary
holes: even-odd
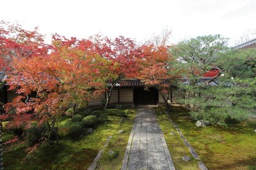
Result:
[[[181,101],[191,108],[193,118],[223,126],[256,115],[256,50],[230,50],[225,42],[219,35],[208,35],[171,47],[174,57],[182,61],[173,67],[183,69],[186,77],[186,84],[185,80],[177,84],[183,91]],[[203,75],[212,69],[224,77],[217,79],[212,74],[203,81]],[[210,86],[211,81],[218,86]]]

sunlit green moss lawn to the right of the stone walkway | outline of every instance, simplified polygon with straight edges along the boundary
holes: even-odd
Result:
[[[169,135],[171,131],[176,130],[168,123],[166,115],[162,113],[163,110],[159,109],[158,112],[159,123],[164,131],[174,165],[177,169],[196,169],[196,166],[193,166],[195,160],[192,159],[190,163],[182,162],[181,157],[184,154],[191,156],[188,148],[178,139],[179,135]],[[216,125],[197,128],[196,121],[191,120],[186,111],[176,109],[169,115],[208,169],[256,169],[255,125],[240,123],[228,125],[228,128]]]

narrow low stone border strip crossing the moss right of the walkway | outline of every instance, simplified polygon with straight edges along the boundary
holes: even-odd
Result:
[[[170,115],[167,113],[167,111],[166,111],[165,113],[166,113],[166,115],[167,115],[169,121],[171,122],[171,124],[174,125],[174,128],[176,128],[178,134],[181,136],[181,138],[182,138],[184,144],[186,145],[186,147],[188,147],[189,152],[191,152],[192,156],[193,156],[196,160],[200,161],[200,162],[198,163],[199,169],[201,169],[201,170],[208,170],[207,167],[206,167],[206,165],[203,164],[203,162],[201,162],[201,159],[200,159],[200,157],[198,156],[198,154],[196,153],[196,150],[193,149],[193,147],[191,147],[191,145],[188,143],[188,140],[186,140],[186,137],[184,137],[184,135],[182,134],[181,130],[179,130],[179,129],[178,129],[178,126],[174,123],[173,120],[171,120]]]

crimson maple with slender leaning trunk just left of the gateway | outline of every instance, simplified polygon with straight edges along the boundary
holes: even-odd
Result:
[[[142,50],[134,40],[124,38],[123,36],[110,39],[96,35],[92,39],[95,42],[95,52],[113,63],[113,67],[109,70],[112,77],[107,80],[109,86],[105,90],[106,102],[104,109],[106,109],[110,103],[114,86],[121,79],[137,77],[138,63],[136,58],[142,55]]]

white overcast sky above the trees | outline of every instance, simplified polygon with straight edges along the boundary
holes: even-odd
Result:
[[[208,34],[235,40],[256,28],[256,0],[4,0],[0,20],[39,26],[48,36],[102,33],[143,42],[169,28],[172,43]]]

